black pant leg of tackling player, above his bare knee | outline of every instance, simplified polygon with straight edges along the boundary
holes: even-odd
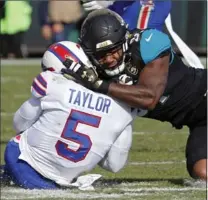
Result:
[[[191,176],[194,164],[202,159],[207,159],[207,124],[190,129],[186,145],[187,169]]]

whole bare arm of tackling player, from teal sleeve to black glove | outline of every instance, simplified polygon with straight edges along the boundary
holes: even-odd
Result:
[[[145,65],[137,85],[111,83],[108,94],[132,107],[152,110],[164,93],[169,69],[169,54]]]

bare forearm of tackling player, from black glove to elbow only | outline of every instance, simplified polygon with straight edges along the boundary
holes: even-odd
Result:
[[[121,85],[111,83],[108,95],[117,98],[128,105],[136,108],[151,109],[155,101],[155,94],[140,85]]]

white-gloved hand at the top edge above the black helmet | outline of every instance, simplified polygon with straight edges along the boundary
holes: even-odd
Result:
[[[93,0],[82,0],[83,8],[85,11],[92,11],[107,8],[112,5],[114,1],[93,1]]]

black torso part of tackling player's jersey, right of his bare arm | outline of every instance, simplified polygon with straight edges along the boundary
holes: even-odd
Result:
[[[174,55],[164,94],[154,110],[144,117],[168,121],[176,128],[190,125],[194,110],[205,98],[206,91],[207,70],[187,67]]]

